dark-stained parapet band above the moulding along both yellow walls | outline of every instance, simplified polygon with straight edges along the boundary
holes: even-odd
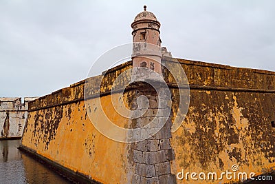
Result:
[[[265,71],[265,70],[256,70],[256,69],[249,69],[249,68],[234,68],[229,65],[219,65],[214,63],[203,63],[200,61],[190,61],[185,59],[175,59],[175,58],[168,58],[165,60],[164,58],[162,61],[179,61],[179,63],[182,65],[183,68],[190,68],[190,65],[200,65],[202,68],[192,68],[188,71],[186,71],[188,74],[188,81],[190,84],[191,90],[225,90],[225,91],[241,91],[241,92],[262,92],[262,93],[274,93],[275,88],[272,87],[272,84],[275,83],[275,77],[273,79],[273,74],[275,75],[275,72]],[[112,81],[116,79],[119,72],[117,71],[123,71],[124,68],[131,68],[132,61],[127,61],[126,63],[122,63],[118,66],[115,66],[114,68],[111,68],[105,72],[102,72],[104,77],[106,77],[107,83],[103,83],[104,89],[100,90],[100,96],[108,95],[110,93],[111,88],[110,85],[112,85]],[[185,66],[184,66],[185,65]],[[219,75],[212,76],[211,72],[205,68],[218,68],[218,69],[225,69],[223,74],[228,75],[225,79],[221,79]],[[216,70],[212,69],[212,72],[215,72]],[[200,80],[197,78],[197,72],[203,72],[205,75],[209,75],[212,81],[208,81],[206,85],[203,85],[203,80]],[[218,73],[219,74],[219,73]],[[272,78],[267,79],[270,76],[267,76],[265,74],[272,75]],[[97,78],[102,77],[102,75],[98,76],[92,76],[88,79],[93,79],[94,85],[98,85],[98,79]],[[165,76],[166,77],[166,76]],[[216,79],[221,79],[218,83],[215,83]],[[74,83],[70,85],[67,88],[62,88],[60,90],[57,90],[55,92],[52,92],[52,94],[47,94],[45,96],[41,96],[39,99],[36,99],[34,101],[31,101],[29,103],[29,110],[34,110],[37,108],[43,108],[48,105],[56,105],[60,103],[74,103],[76,101],[83,101],[84,99],[84,85],[87,79],[84,79],[82,81],[79,81],[77,83]],[[271,80],[271,81],[270,81]],[[248,85],[242,85],[242,83],[248,83]],[[166,83],[168,83],[169,88],[175,88],[176,83],[173,80],[166,79]],[[122,86],[126,85],[122,83]],[[98,96],[99,92],[92,91],[91,96]]]

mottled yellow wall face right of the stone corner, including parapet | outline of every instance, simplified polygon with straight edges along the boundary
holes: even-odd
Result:
[[[275,166],[275,72],[231,68],[179,60],[190,83],[190,106],[185,121],[172,134],[173,174],[182,172],[271,172]],[[171,63],[173,64],[173,63]],[[175,64],[176,65],[176,64]],[[171,76],[166,81],[173,83]],[[179,99],[173,94],[173,116]],[[198,178],[198,176],[196,176]],[[229,183],[232,180],[178,183]],[[236,180],[235,180],[236,181]]]

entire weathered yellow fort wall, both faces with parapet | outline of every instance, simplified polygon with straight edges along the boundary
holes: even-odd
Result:
[[[176,179],[178,172],[221,174],[231,171],[232,165],[248,174],[272,172],[275,167],[275,72],[178,61],[190,84],[190,106],[176,132],[166,132],[141,144],[108,139],[87,116],[84,80],[29,103],[21,148],[71,176],[96,183],[187,183],[185,179]],[[173,59],[162,62],[179,67]],[[110,103],[110,90],[116,77],[131,67],[129,61],[105,72],[100,97],[98,91],[93,91],[94,99],[89,100],[92,104],[100,98],[109,119],[121,127],[131,127],[135,122],[115,112]],[[173,97],[170,114],[173,123],[179,93],[170,73],[163,72]],[[100,85],[99,76],[90,80],[95,86]],[[121,86],[124,85],[127,85],[126,79],[121,81]],[[150,92],[147,88],[137,85],[124,91],[127,108],[132,108],[137,93]],[[150,95],[152,92],[146,94]],[[96,108],[90,111],[98,113]],[[98,114],[98,119],[101,117],[102,114]],[[192,181],[210,182],[217,183]],[[223,178],[220,182],[230,181]]]

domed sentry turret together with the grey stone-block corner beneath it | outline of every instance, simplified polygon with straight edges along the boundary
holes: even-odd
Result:
[[[159,21],[157,21],[155,14],[148,12],[146,6],[144,6],[144,11],[137,14],[131,27],[133,28],[133,71],[136,71],[133,72],[133,79],[138,81],[149,79],[159,86],[158,91],[164,92],[165,89],[161,87],[162,82],[157,78],[157,74],[159,74],[159,77],[163,77],[162,57],[170,55],[166,48],[161,48]],[[142,71],[142,68],[148,68],[151,72],[145,69]],[[152,77],[154,72],[157,74]],[[133,174],[131,183],[176,183],[175,174],[171,174],[170,170],[170,161],[173,160],[173,151],[170,148],[169,140],[172,137],[170,130],[172,122],[170,113],[165,113],[170,109],[166,107],[165,103],[158,104],[158,99],[167,102],[170,97],[168,98],[166,95],[159,96],[155,91],[156,89],[145,83],[140,83],[140,86],[133,93],[133,101],[130,106],[134,107],[131,110],[135,110],[138,98],[146,96],[149,102],[148,109],[144,108],[147,112],[140,118],[133,119],[132,125],[135,128],[142,128],[144,132],[149,132],[152,128],[161,129],[154,136],[139,141],[133,146],[135,174]],[[169,90],[168,93],[170,93]],[[144,101],[141,103],[144,103]],[[162,115],[159,116],[159,114]],[[155,125],[150,125],[148,128],[144,127],[153,119]],[[168,119],[168,121],[162,122],[164,119]],[[164,127],[162,127],[162,123],[165,123]],[[141,136],[144,136],[144,134],[141,134]]]

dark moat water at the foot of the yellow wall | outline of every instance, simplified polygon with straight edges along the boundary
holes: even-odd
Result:
[[[0,141],[0,183],[70,183],[56,172],[21,152],[20,140]]]

